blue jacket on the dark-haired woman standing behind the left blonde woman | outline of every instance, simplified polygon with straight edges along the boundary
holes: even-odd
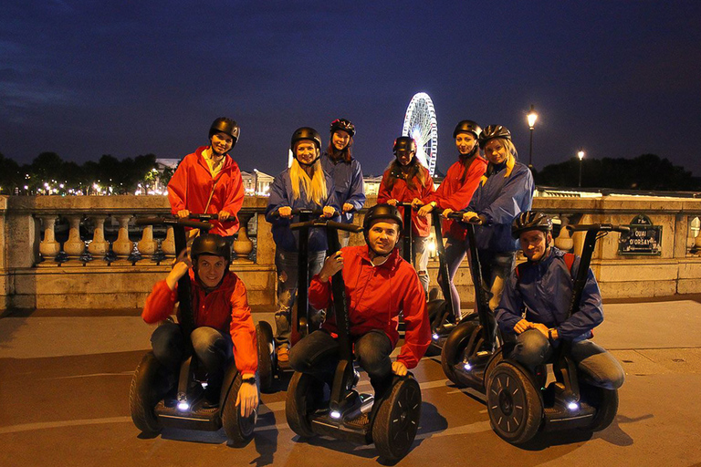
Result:
[[[362,181],[361,162],[355,159],[351,159],[351,162],[334,162],[329,154],[324,152],[321,154],[321,167],[333,179],[336,200],[339,202],[340,207],[343,207],[344,202],[349,202],[353,205],[355,211],[360,211],[365,204],[365,183]],[[352,223],[353,212],[342,213],[340,222]]]

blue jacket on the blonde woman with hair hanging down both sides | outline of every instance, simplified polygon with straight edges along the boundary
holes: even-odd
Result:
[[[289,169],[281,172],[275,177],[273,184],[270,185],[270,198],[267,201],[266,220],[273,224],[273,240],[277,248],[282,248],[288,252],[296,252],[298,250],[299,232],[292,231],[289,228],[290,223],[298,223],[299,216],[293,216],[291,219],[284,219],[277,215],[277,210],[283,206],[289,206],[292,209],[322,209],[324,206],[331,206],[340,213],[340,205],[336,201],[336,195],[333,189],[333,180],[328,173],[326,176],[326,192],[327,197],[323,204],[319,206],[316,202],[307,201],[307,194],[303,187],[300,187],[299,198],[294,199],[292,193],[292,185],[289,179]],[[331,218],[331,220],[339,222],[339,216]],[[329,246],[326,241],[325,229],[310,229],[309,230],[309,251],[320,252],[328,250]]]

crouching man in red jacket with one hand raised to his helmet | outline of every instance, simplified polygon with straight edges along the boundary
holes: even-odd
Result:
[[[187,336],[180,324],[166,319],[177,302],[178,280],[189,274],[194,320],[190,338],[197,358],[209,374],[204,395],[211,404],[218,402],[225,362],[235,358],[243,379],[236,405],[247,417],[258,405],[258,354],[246,285],[229,271],[231,247],[223,237],[212,233],[196,237],[191,255],[194,263],[186,253],[181,254],[171,273],[153,286],[146,299],[143,320],[149,324],[163,321],[151,337],[153,355],[173,372],[183,361]],[[179,312],[178,321],[183,322]]]

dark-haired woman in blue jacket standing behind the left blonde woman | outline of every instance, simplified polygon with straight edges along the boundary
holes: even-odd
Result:
[[[365,185],[361,163],[353,159],[355,127],[347,119],[335,119],[330,126],[329,147],[321,154],[321,167],[333,179],[336,199],[340,204],[340,222],[352,223],[353,213],[365,204]],[[340,246],[348,246],[351,233],[339,231]]]

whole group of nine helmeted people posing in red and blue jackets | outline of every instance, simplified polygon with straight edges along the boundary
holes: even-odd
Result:
[[[518,161],[507,128],[490,125],[482,129],[466,119],[455,126],[456,161],[437,189],[429,171],[416,158],[416,141],[405,136],[394,141],[394,159],[383,173],[377,205],[365,214],[364,245],[347,246],[348,234],[341,235],[340,252],[327,256],[324,229],[310,230],[309,304],[319,328],[290,348],[290,312],[298,285],[308,283],[297,276],[298,233],[290,229],[297,220],[294,210],[313,210],[335,221],[353,223],[354,214],[366,201],[361,164],[352,153],[355,134],[351,121],[335,119],[324,147],[318,131],[309,127],[295,130],[290,141],[294,159],[271,185],[266,219],[272,224],[276,244],[275,341],[279,364],[329,380],[330,368],[335,368],[333,360],[338,358],[335,322],[322,310],[330,305],[330,277],[342,271],[355,357],[368,372],[376,397],[382,397],[393,374],[402,376],[415,367],[431,338],[426,313],[426,242],[434,210],[443,214],[455,322],[462,317],[453,280],[468,249],[465,223],[478,222],[476,247],[489,306],[496,312],[501,331],[518,335],[518,358],[528,361],[528,365],[544,360],[560,338],[591,342],[587,340],[591,328],[602,321],[601,296],[593,275],[590,272],[591,280],[582,298],[586,306],[563,319],[567,296],[571,296],[571,280],[565,279],[571,278],[561,270],[569,272],[569,268],[564,266],[560,250],[551,245],[551,223],[542,221],[547,217],[538,214],[541,221],[532,222],[536,215],[529,211],[535,188],[532,174]],[[236,214],[244,200],[241,172],[228,154],[238,137],[239,127],[234,120],[214,120],[209,144],[187,155],[173,174],[168,185],[173,214],[187,217],[190,213],[216,213],[217,220],[212,221],[210,233],[194,238],[189,258],[187,254],[179,256],[173,271],[154,286],[142,316],[148,323],[169,317],[177,300],[177,281],[189,274],[194,290],[194,351],[215,375],[214,384],[210,383],[207,390],[216,403],[216,382],[221,380],[216,375],[223,374],[224,362],[234,358],[244,381],[237,403],[241,413],[247,415],[258,403],[256,332],[246,286],[229,271],[230,245],[225,239],[238,230]],[[398,251],[403,232],[404,208],[397,207],[401,202],[413,207],[413,267]],[[462,213],[462,218],[449,219],[450,213]],[[519,248],[523,248],[529,264],[541,266],[515,279]],[[551,271],[558,271],[557,282],[552,284],[556,279]],[[539,281],[547,286],[540,286]],[[543,303],[549,306],[548,312],[532,307]],[[390,354],[399,340],[400,314],[406,332],[403,348],[392,362]],[[535,333],[539,339],[532,338]],[[156,358],[176,371],[185,338],[178,325],[158,327],[152,336]],[[591,367],[603,385],[623,382],[623,370],[620,365],[616,367],[615,359],[602,348],[591,346],[595,345],[591,343],[586,352],[581,352],[581,364],[593,358]]]

